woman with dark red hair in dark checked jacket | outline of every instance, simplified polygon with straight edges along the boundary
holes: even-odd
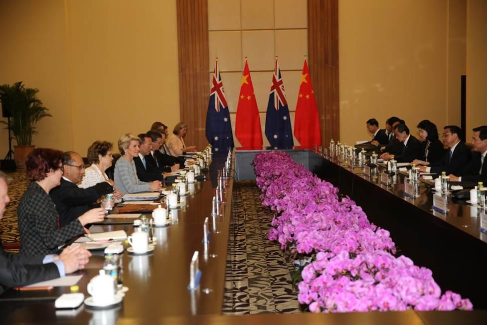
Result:
[[[34,149],[25,162],[30,183],[17,208],[20,232],[20,254],[56,254],[58,246],[82,235],[88,223],[102,221],[105,209],[91,209],[61,227],[59,213],[49,196],[60,183],[63,153],[58,150]]]

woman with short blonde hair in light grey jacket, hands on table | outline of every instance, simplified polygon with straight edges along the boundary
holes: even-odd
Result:
[[[122,135],[118,141],[118,148],[122,157],[115,163],[114,178],[117,187],[123,194],[156,190],[162,187],[159,180],[145,182],[137,177],[134,158],[139,156],[140,143],[141,139],[130,133]]]

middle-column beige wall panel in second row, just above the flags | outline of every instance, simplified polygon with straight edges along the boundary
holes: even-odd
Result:
[[[242,31],[242,70],[246,56],[251,72],[274,69],[274,30]]]

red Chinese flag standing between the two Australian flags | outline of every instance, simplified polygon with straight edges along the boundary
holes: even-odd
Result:
[[[235,136],[244,148],[262,149],[263,142],[259,109],[257,108],[254,86],[252,86],[247,60],[245,60],[245,68],[240,85],[237,118],[235,121]]]

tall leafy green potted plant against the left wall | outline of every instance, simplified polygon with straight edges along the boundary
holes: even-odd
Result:
[[[38,92],[35,88],[25,88],[21,81],[12,86],[0,86],[0,101],[4,110],[10,114],[10,129],[17,143],[13,147],[13,154],[19,169],[25,169],[25,160],[34,150],[32,136],[37,133],[35,125],[42,118],[52,116],[37,98]],[[0,122],[7,124],[5,121]]]

